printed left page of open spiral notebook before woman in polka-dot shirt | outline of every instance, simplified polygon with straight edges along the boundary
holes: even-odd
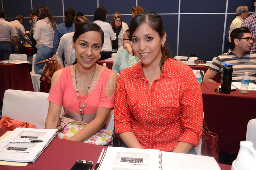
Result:
[[[108,147],[99,170],[162,170],[157,149]]]

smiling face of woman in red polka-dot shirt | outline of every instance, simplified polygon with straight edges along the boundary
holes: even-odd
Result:
[[[159,65],[162,52],[161,45],[166,40],[166,34],[161,38],[147,23],[142,24],[132,35],[132,48],[143,67]]]

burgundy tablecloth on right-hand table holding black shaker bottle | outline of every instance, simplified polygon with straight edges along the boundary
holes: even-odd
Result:
[[[230,94],[214,92],[220,83],[202,82],[204,119],[209,130],[219,135],[218,148],[238,153],[239,142],[245,140],[247,123],[256,118],[256,92]]]

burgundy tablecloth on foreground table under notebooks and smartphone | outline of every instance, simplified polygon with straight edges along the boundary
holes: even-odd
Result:
[[[7,129],[0,128],[0,136],[2,136],[6,131]],[[50,143],[50,145],[47,146],[36,162],[29,163],[27,166],[0,166],[0,169],[69,170],[78,159],[92,161],[93,169],[102,148],[107,147],[54,138],[54,140]],[[231,169],[231,165],[219,164],[219,166],[221,170]]]

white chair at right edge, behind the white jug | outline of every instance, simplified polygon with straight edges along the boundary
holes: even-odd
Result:
[[[247,124],[246,140],[253,142],[253,147],[256,149],[256,118],[249,120]]]

